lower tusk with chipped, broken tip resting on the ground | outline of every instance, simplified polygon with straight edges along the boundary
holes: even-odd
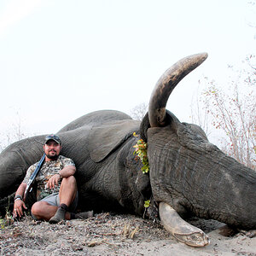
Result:
[[[159,212],[161,223],[178,241],[190,247],[204,247],[210,243],[201,229],[184,221],[170,205],[160,202]]]

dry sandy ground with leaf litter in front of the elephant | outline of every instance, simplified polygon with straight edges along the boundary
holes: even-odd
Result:
[[[109,212],[60,224],[26,217],[1,227],[0,255],[249,255],[256,256],[255,232],[222,236],[224,224],[190,221],[210,237],[207,247],[176,241],[159,221]],[[227,235],[227,234],[226,234]]]

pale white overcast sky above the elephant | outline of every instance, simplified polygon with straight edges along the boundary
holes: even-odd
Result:
[[[26,132],[47,134],[95,110],[130,113],[173,63],[207,52],[167,105],[189,122],[197,80],[224,79],[228,64],[255,54],[247,2],[2,0],[0,135],[18,118]]]

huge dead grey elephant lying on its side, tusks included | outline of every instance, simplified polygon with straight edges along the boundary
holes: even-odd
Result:
[[[245,230],[256,228],[256,172],[210,143],[200,126],[182,123],[166,109],[179,81],[206,59],[207,53],[189,55],[167,69],[154,87],[142,121],[119,111],[101,110],[57,132],[61,154],[77,166],[82,210],[143,217],[145,201],[150,200],[166,230],[192,247],[206,246],[209,238],[186,221],[189,216]],[[11,207],[27,168],[42,156],[44,137],[20,140],[0,154],[2,212],[7,203]],[[134,154],[139,139],[147,143],[146,173]]]

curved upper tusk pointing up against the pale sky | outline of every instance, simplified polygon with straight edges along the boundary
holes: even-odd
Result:
[[[207,56],[207,53],[201,53],[183,58],[167,69],[160,77],[154,86],[149,101],[148,117],[151,127],[165,125],[166,103],[172,90],[181,79],[194,70],[195,67],[201,65],[201,63],[207,59]]]

